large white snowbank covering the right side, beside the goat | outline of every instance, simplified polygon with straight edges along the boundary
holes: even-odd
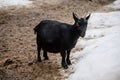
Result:
[[[76,60],[68,80],[120,80],[120,11],[93,13],[88,25],[76,45],[84,49],[72,54]]]

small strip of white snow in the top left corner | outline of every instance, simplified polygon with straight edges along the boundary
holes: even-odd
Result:
[[[7,6],[27,6],[31,3],[29,0],[0,0],[0,7]]]

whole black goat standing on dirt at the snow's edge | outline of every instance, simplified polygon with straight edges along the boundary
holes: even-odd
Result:
[[[43,20],[35,28],[37,32],[38,61],[41,62],[40,51],[43,49],[44,58],[48,60],[47,52],[61,53],[62,67],[67,69],[71,64],[69,59],[71,49],[75,47],[78,38],[84,37],[90,14],[78,19],[73,13],[73,25],[52,20]]]

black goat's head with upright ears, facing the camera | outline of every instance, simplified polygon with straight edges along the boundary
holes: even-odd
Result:
[[[75,28],[76,30],[79,32],[79,35],[81,37],[84,37],[85,34],[86,34],[86,29],[87,29],[87,24],[88,24],[88,19],[90,18],[90,15],[89,14],[88,16],[86,16],[85,18],[77,18],[77,15],[75,13],[73,13],[73,18],[74,18],[74,21],[75,21]]]

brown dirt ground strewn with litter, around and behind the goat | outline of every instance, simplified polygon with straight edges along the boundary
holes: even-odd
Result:
[[[31,0],[30,7],[0,8],[0,80],[65,80],[69,70],[61,68],[60,54],[49,54],[49,61],[37,62],[33,28],[43,19],[73,23],[79,17],[103,11],[110,2],[97,0]],[[107,11],[107,10],[106,10]],[[73,49],[75,52],[77,49]]]

